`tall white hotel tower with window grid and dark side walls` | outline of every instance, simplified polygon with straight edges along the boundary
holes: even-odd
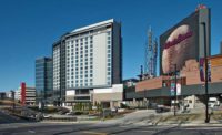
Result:
[[[94,90],[121,81],[121,24],[113,19],[75,29],[53,44],[56,104],[92,102]]]

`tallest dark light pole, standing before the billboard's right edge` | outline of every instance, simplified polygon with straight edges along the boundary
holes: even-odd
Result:
[[[208,75],[208,48],[206,48],[206,31],[205,31],[205,22],[201,22],[201,24],[203,25],[203,34],[204,34],[204,60],[205,60],[205,123],[210,122],[210,117],[209,117],[209,90],[208,90],[208,80],[209,80],[209,75]]]

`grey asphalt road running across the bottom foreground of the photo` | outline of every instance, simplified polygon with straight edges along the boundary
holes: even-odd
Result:
[[[0,125],[1,126],[1,125]],[[20,124],[0,135],[222,135],[222,126],[141,126],[110,124]]]

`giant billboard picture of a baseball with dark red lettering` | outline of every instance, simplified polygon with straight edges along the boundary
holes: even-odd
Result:
[[[199,60],[199,12],[192,13],[160,37],[160,72],[182,70],[185,61]]]

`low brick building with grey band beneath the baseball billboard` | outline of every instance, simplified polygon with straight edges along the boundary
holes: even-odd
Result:
[[[220,101],[222,95],[222,55],[209,56],[209,95]],[[204,68],[203,68],[204,71]],[[204,82],[200,79],[200,64],[195,60],[185,62],[184,68],[176,75],[176,96],[181,103],[189,104],[190,108],[203,106],[205,94]],[[125,101],[130,105],[144,106],[144,101],[150,103],[171,105],[174,100],[172,84],[174,75],[162,75],[150,80],[140,81],[134,90],[125,91]],[[174,89],[173,89],[174,91]]]

